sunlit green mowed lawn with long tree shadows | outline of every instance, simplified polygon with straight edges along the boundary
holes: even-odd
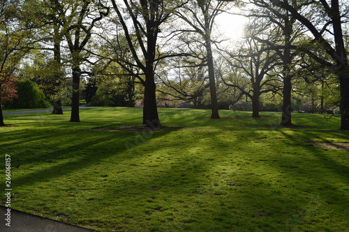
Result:
[[[339,118],[159,109],[151,132],[119,129],[142,109],[80,114],[5,116],[13,208],[98,231],[349,231],[348,151],[314,146],[349,142]]]

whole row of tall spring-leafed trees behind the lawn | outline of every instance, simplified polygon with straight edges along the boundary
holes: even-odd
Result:
[[[349,130],[345,1],[3,0],[0,10],[0,104],[15,96],[17,77],[39,84],[54,114],[70,99],[71,122],[85,86],[95,105],[140,99],[150,127],[161,126],[159,101],[209,106],[219,118],[220,105],[247,99],[253,117],[261,100],[277,100],[285,126],[299,102],[339,106]],[[215,20],[233,12],[248,23],[227,45]]]

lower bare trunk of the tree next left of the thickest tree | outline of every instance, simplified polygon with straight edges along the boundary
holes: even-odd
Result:
[[[71,98],[70,122],[80,123],[79,102],[80,102],[80,67],[73,68],[73,95]]]

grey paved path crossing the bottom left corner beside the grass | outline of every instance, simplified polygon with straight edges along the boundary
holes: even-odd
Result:
[[[92,232],[94,230],[73,226],[27,212],[10,209],[10,226],[6,226],[6,207],[0,206],[1,232]]]

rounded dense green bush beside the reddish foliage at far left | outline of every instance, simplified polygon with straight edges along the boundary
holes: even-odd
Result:
[[[8,108],[46,108],[50,106],[43,91],[38,85],[30,80],[17,82],[18,98],[13,102],[8,102]]]

